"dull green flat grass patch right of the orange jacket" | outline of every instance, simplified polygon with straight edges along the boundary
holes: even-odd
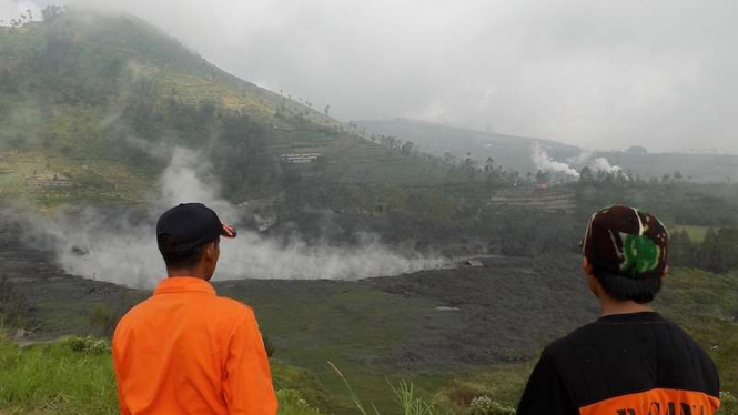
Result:
[[[400,382],[413,376],[416,391],[432,395],[453,375],[447,373],[411,373],[388,371],[386,365],[372,362],[416,333],[438,315],[434,301],[407,298],[380,290],[346,283],[307,289],[310,282],[294,282],[284,290],[281,282],[256,291],[249,282],[225,282],[221,295],[250,304],[256,310],[260,325],[276,343],[275,356],[290,365],[306,368],[331,394],[326,409],[347,413],[352,402],[342,391],[343,382],[327,362],[334,362],[353,378],[354,386],[381,411],[390,411],[395,399],[387,393],[387,377]]]

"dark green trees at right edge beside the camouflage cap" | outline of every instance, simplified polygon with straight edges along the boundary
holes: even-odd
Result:
[[[671,235],[670,262],[714,273],[738,271],[738,229],[709,229],[702,242],[692,241],[687,231]]]

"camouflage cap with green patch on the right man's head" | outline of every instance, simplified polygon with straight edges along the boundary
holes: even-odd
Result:
[[[668,232],[656,216],[635,208],[611,206],[592,216],[582,249],[609,274],[645,280],[664,274],[668,242]]]

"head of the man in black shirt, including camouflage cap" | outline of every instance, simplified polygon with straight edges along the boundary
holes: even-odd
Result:
[[[595,295],[647,304],[661,290],[668,233],[656,216],[628,206],[599,211],[589,221],[582,247]]]

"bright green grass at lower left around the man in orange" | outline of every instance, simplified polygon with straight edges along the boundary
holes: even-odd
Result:
[[[276,364],[273,371],[276,381],[292,370]],[[105,341],[94,337],[27,347],[0,340],[0,413],[7,415],[119,413],[110,351]],[[321,414],[302,391],[283,388],[276,395],[279,415]]]

